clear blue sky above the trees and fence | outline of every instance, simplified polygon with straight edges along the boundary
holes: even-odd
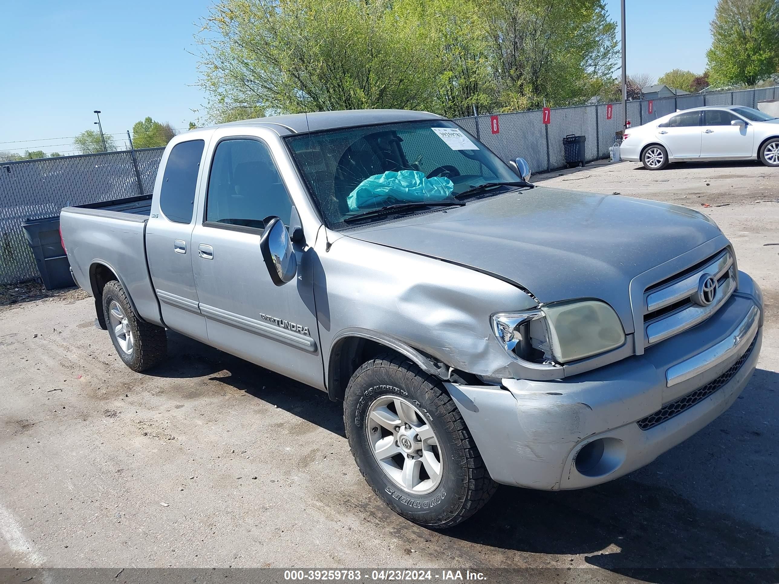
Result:
[[[619,23],[619,0],[606,3]],[[0,2],[0,150],[71,153],[93,110],[118,145],[147,115],[186,128],[205,102],[192,35],[211,4]],[[703,72],[715,4],[627,0],[628,72]]]

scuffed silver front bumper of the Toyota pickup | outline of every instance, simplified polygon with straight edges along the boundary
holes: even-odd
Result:
[[[492,478],[557,491],[629,473],[735,401],[755,370],[762,296],[748,278],[717,315],[643,355],[556,381],[446,383]],[[682,375],[679,375],[680,372]]]

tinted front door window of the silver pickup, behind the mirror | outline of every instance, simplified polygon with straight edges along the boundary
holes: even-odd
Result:
[[[288,226],[291,213],[287,188],[263,142],[231,139],[218,144],[208,179],[206,221],[262,229],[268,216]]]

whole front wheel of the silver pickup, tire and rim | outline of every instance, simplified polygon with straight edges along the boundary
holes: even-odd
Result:
[[[355,371],[344,426],[375,494],[422,526],[456,526],[495,492],[456,404],[405,357],[385,355]]]

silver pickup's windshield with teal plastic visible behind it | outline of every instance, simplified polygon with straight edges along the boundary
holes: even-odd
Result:
[[[371,209],[456,201],[488,182],[522,179],[492,152],[447,120],[342,128],[287,138],[328,226]],[[495,188],[485,193],[503,192]]]

